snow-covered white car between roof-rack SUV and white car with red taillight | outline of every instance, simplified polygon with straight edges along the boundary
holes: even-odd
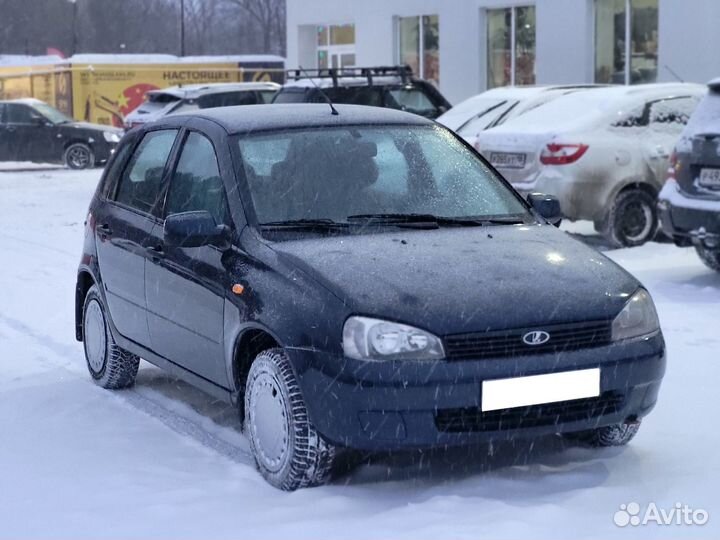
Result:
[[[458,103],[437,121],[474,145],[481,131],[499,126],[560,96],[601,87],[577,84],[493,88]]]

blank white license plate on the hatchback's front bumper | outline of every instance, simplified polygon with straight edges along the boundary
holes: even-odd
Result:
[[[497,379],[482,384],[482,410],[499,411],[600,396],[600,368]]]

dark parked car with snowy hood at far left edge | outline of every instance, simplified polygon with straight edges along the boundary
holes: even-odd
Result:
[[[76,122],[37,99],[0,101],[0,161],[87,169],[105,163],[121,135],[110,126]]]

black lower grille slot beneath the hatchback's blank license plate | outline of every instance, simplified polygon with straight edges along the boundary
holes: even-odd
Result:
[[[501,411],[482,412],[478,408],[445,409],[435,415],[435,425],[445,433],[472,431],[503,431],[579,422],[622,408],[624,396],[617,392],[605,392],[600,397],[575,399],[559,403],[546,403],[530,407],[516,407]]]

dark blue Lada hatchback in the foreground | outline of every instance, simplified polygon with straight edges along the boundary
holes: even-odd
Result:
[[[343,448],[627,443],[665,371],[641,284],[449,130],[336,113],[227,108],[126,135],[77,277],[92,378],[129,386],[142,357],[236,403],[286,490]]]

